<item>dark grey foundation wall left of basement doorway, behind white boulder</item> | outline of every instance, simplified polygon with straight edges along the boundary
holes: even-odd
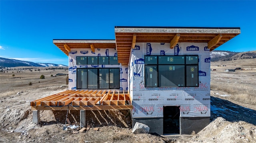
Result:
[[[132,127],[136,122],[148,125],[150,128],[149,133],[163,134],[163,118],[132,118]]]

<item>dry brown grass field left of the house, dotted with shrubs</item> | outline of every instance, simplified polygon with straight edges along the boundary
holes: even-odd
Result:
[[[50,86],[68,87],[65,80],[66,76],[56,76],[58,73],[68,74],[68,69],[44,70],[45,67],[15,67],[12,69],[14,70],[0,72],[0,97]],[[15,76],[12,76],[13,74]],[[45,79],[40,79],[41,75],[44,75]],[[32,85],[29,85],[30,82]]]

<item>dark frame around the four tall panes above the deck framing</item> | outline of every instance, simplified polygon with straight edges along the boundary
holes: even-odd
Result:
[[[79,80],[78,81],[78,71],[76,72],[76,88],[77,89],[120,89],[120,68],[78,68],[77,70],[79,70],[79,69],[86,69],[86,72],[87,72],[87,75],[86,75],[86,79],[87,79],[87,81],[86,81],[86,85],[87,85],[87,87],[86,88],[78,88],[78,82],[80,82],[81,80]],[[89,84],[88,84],[88,80],[90,80],[89,78],[88,78],[88,69],[97,69],[97,88],[88,88],[88,86],[89,86]],[[108,81],[109,81],[109,83],[108,83],[108,88],[100,88],[100,76],[99,76],[99,74],[100,74],[100,69],[108,69]],[[110,69],[118,69],[118,82],[117,83],[115,83],[115,84],[117,84],[117,86],[118,86],[118,88],[110,88]],[[80,76],[80,75],[79,75]],[[113,81],[114,81],[114,77],[113,77]],[[81,85],[81,87],[82,87],[82,85]]]

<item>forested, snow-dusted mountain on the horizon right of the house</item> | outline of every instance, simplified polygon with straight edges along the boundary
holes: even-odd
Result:
[[[248,52],[231,52],[214,50],[210,52],[211,61],[232,61],[240,59],[254,59],[256,58],[256,51]]]

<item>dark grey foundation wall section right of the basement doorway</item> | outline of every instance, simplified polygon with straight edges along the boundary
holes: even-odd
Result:
[[[181,134],[190,135],[192,131],[199,132],[210,123],[210,117],[186,117],[180,119]]]

